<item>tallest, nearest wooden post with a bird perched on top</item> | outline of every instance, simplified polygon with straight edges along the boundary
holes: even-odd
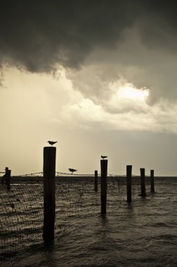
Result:
[[[44,148],[44,242],[54,240],[55,228],[55,147]]]

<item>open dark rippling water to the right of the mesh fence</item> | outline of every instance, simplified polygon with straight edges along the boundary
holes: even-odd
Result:
[[[177,266],[177,178],[157,178],[156,193],[147,185],[145,198],[134,185],[131,204],[126,186],[111,180],[105,217],[91,180],[70,186],[80,198],[65,214],[65,231],[56,234],[51,247],[23,249],[25,259],[16,258],[11,266]]]

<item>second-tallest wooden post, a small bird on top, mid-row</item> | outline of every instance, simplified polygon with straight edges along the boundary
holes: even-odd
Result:
[[[100,195],[101,195],[101,214],[106,214],[107,200],[107,159],[101,159]]]

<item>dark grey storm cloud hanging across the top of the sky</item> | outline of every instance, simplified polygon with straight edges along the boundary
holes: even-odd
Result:
[[[0,60],[31,72],[79,67],[136,25],[145,46],[176,53],[176,1],[1,1]]]

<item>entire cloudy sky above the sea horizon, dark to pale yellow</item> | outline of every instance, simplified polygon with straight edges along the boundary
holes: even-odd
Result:
[[[0,171],[177,176],[177,2],[1,0]]]

